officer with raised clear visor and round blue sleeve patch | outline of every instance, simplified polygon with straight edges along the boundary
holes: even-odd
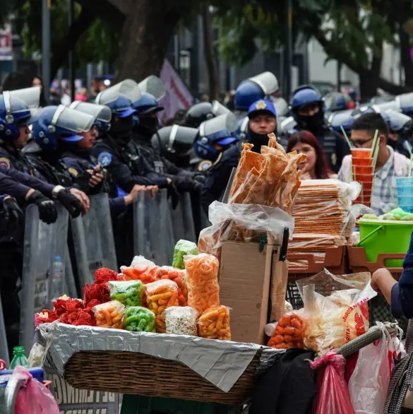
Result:
[[[158,175],[149,167],[145,159],[140,158],[131,146],[133,129],[132,102],[141,96],[138,84],[126,79],[96,97],[96,103],[106,105],[112,111],[110,131],[106,132],[92,148],[92,157],[106,168],[114,182],[123,191],[129,192],[136,184],[157,185],[173,191],[172,180]]]

